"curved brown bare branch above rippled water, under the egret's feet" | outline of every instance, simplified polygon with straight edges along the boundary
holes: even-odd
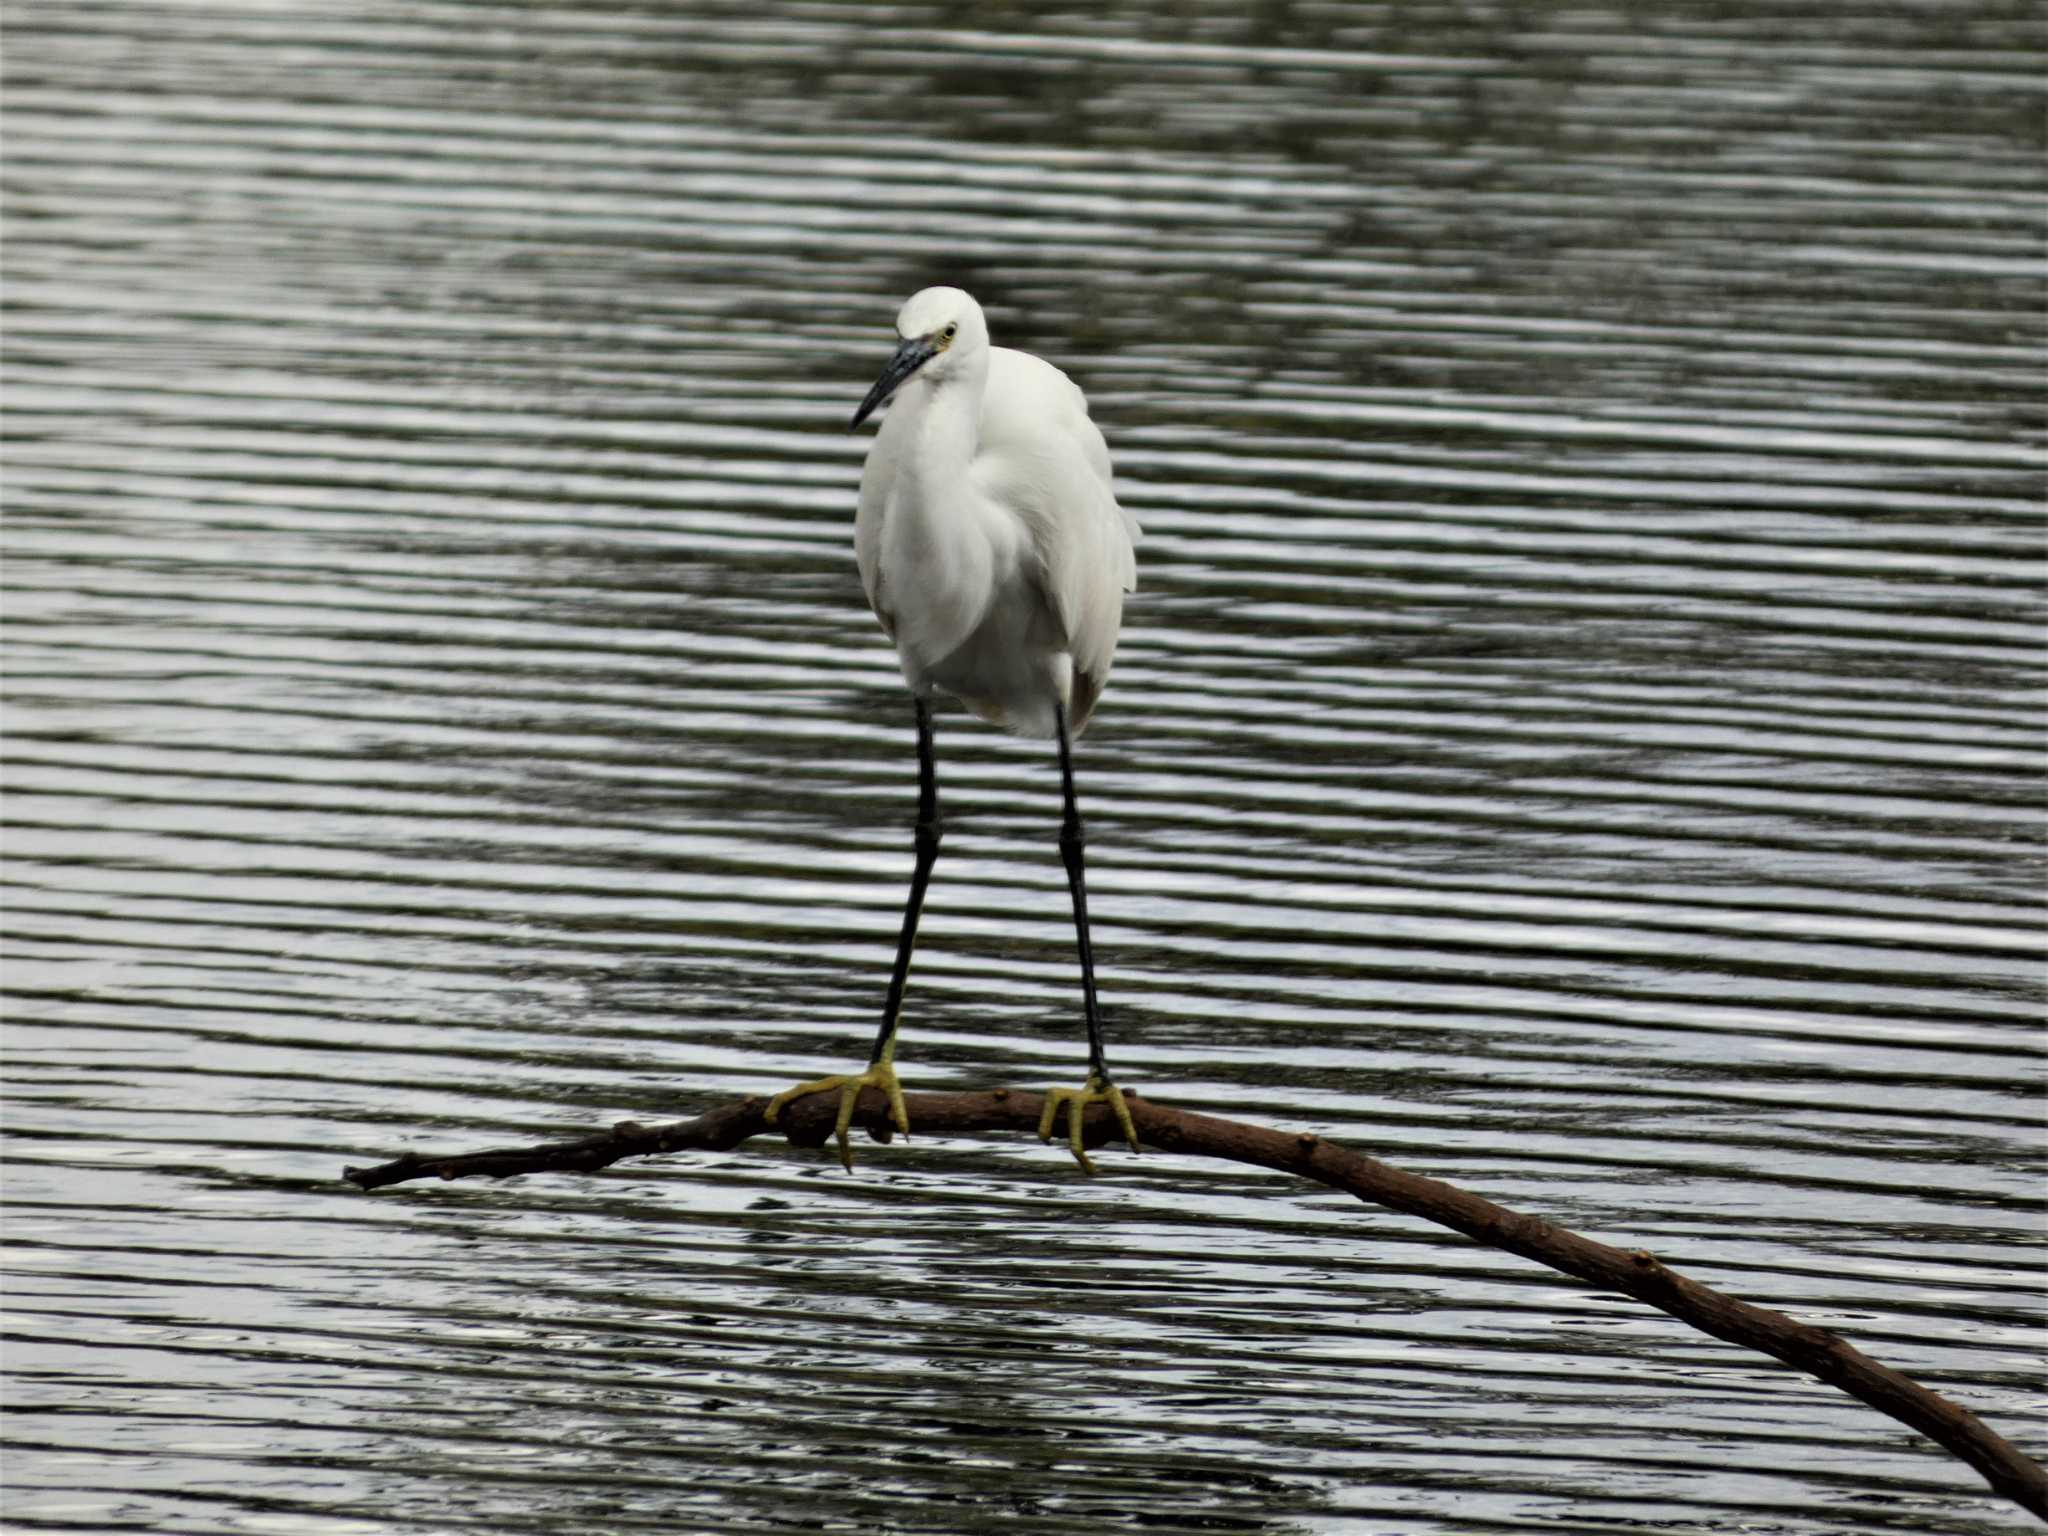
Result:
[[[907,1094],[909,1118],[932,1135],[975,1135],[987,1130],[1036,1130],[1042,1098],[997,1087],[987,1094]],[[1880,1366],[1827,1329],[1796,1323],[1784,1313],[1735,1300],[1688,1280],[1642,1249],[1620,1249],[1552,1227],[1440,1180],[1403,1174],[1374,1157],[1311,1135],[1290,1135],[1266,1126],[1219,1120],[1208,1114],[1169,1110],[1126,1092],[1139,1139],[1163,1151],[1192,1157],[1223,1157],[1255,1163],[1327,1184],[1370,1204],[1401,1210],[1509,1253],[1546,1264],[1593,1286],[1620,1290],[1669,1313],[1681,1323],[1718,1339],[1761,1350],[1796,1370],[1819,1376],[1851,1397],[1919,1430],[1935,1444],[1974,1466],[1993,1491],[2048,1522],[2048,1470],[2017,1446],[1995,1434],[1968,1409],[1939,1393]],[[821,1147],[831,1135],[838,1108],[834,1094],[813,1094],[782,1110],[780,1124],[762,1118],[768,1100],[748,1098],[721,1104],[694,1120],[643,1126],[621,1122],[582,1141],[539,1147],[422,1157],[406,1153],[379,1167],[348,1167],[342,1176],[362,1190],[420,1178],[506,1178],[510,1174],[592,1171],[627,1157],[668,1151],[727,1151],[764,1133],[784,1133],[803,1147]],[[854,1122],[874,1141],[889,1141],[887,1104],[872,1087],[860,1096]],[[1096,1106],[1083,1122],[1083,1141],[1098,1147],[1116,1135],[1110,1112]]]

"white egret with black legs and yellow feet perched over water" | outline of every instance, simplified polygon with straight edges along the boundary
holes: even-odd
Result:
[[[1094,1174],[1081,1149],[1090,1104],[1110,1106],[1133,1151],[1139,1139],[1102,1057],[1071,737],[1087,727],[1110,676],[1124,592],[1137,586],[1139,524],[1110,489],[1110,451],[1087,418],[1087,399],[1051,362],[989,346],[987,319],[967,293],[913,295],[897,313],[897,338],[895,356],[848,430],[895,395],[860,475],[854,557],[918,711],[918,862],[866,1071],[776,1094],[768,1120],[803,1094],[838,1090],[840,1159],[848,1169],[854,1161],[846,1128],[862,1087],[887,1094],[891,1120],[909,1130],[895,1034],[942,836],[932,694],[946,692],[1018,735],[1059,741],[1059,854],[1081,958],[1087,1083],[1047,1094],[1038,1135],[1051,1141],[1065,1108],[1067,1145]]]

